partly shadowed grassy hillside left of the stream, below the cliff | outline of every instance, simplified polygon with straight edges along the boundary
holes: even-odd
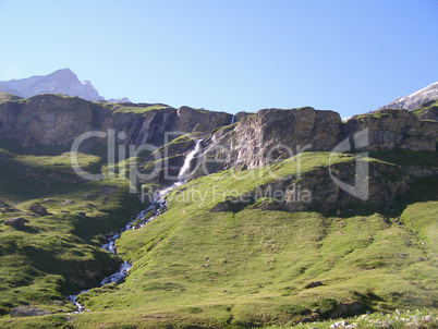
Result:
[[[90,172],[102,164],[92,154],[78,161]],[[100,242],[141,208],[127,187],[121,180],[82,181],[62,147],[0,141],[0,315],[19,305],[65,313],[72,309],[65,295],[117,269],[120,258],[100,249]],[[35,205],[48,214],[31,211]],[[3,223],[16,217],[26,224]]]

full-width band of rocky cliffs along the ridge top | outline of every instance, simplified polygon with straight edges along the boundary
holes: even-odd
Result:
[[[192,139],[203,138],[194,178],[230,168],[261,168],[305,150],[333,150],[339,145],[341,151],[435,151],[438,142],[438,122],[421,120],[406,110],[380,110],[342,122],[333,111],[309,107],[233,117],[190,107],[90,102],[61,95],[0,103],[0,138],[16,139],[23,146],[71,146],[86,132],[110,130],[115,136],[123,133],[117,143],[135,146],[161,147],[186,133],[192,133]],[[366,141],[357,139],[365,131]],[[105,138],[88,142],[108,143]],[[193,144],[178,143],[162,156],[178,170]]]

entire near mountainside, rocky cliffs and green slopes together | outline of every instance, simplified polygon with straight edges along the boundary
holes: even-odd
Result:
[[[28,327],[89,327],[93,316],[96,326],[250,328],[435,308],[438,122],[422,113],[386,109],[342,122],[309,107],[232,115],[0,94],[0,327],[33,315]],[[159,147],[138,156],[138,171],[162,161],[178,176],[195,156],[193,174],[170,193],[163,172],[80,179],[65,149],[92,131],[106,137],[90,144],[113,134]],[[107,174],[102,150],[90,147],[81,167]],[[343,185],[366,186],[367,197]],[[115,234],[137,211],[147,227]],[[101,248],[115,235],[117,257]],[[132,264],[123,284],[81,294],[90,312],[74,314],[65,295],[97,287],[122,260]]]

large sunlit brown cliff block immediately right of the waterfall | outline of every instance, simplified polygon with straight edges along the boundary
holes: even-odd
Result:
[[[341,118],[332,111],[260,110],[205,138],[195,176],[231,167],[259,168],[305,149],[329,150],[340,135]]]

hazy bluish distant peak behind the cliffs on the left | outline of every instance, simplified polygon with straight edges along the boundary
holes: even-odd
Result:
[[[87,100],[105,100],[89,81],[80,81],[70,69],[54,71],[48,75],[36,75],[21,80],[0,81],[0,93],[21,97],[41,94],[63,94]]]

